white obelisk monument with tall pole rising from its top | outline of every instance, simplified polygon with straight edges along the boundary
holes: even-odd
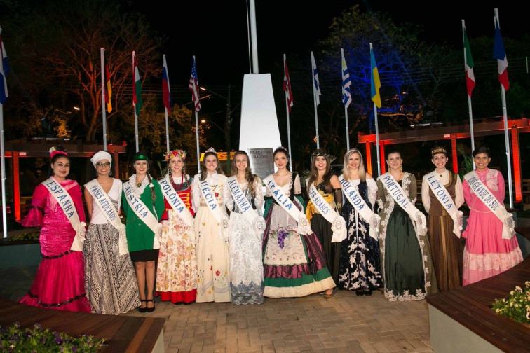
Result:
[[[257,57],[256,9],[250,0],[250,38],[252,43],[252,74],[243,77],[241,101],[241,128],[239,149],[250,154],[252,170],[263,178],[254,167],[252,151],[260,148],[276,148],[282,145],[271,74],[259,74]],[[271,168],[273,160],[271,159]],[[266,177],[266,176],[265,176]]]

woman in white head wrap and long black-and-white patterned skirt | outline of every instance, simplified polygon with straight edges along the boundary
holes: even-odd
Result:
[[[108,152],[95,153],[90,162],[96,178],[85,184],[84,191],[90,217],[83,244],[86,296],[92,312],[121,314],[140,306],[125,226],[118,216],[122,184],[111,177],[112,158]]]

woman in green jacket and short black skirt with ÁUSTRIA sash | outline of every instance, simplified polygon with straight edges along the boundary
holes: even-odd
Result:
[[[164,212],[164,197],[158,181],[149,174],[150,160],[144,152],[132,159],[136,174],[123,183],[123,211],[130,259],[135,264],[140,291],[140,312],[154,312],[155,262],[158,259],[158,221]],[[147,293],[146,293],[147,286]]]

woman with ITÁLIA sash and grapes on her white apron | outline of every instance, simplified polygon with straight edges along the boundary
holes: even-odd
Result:
[[[278,171],[269,177],[273,177],[278,188],[305,214],[300,177],[287,169],[287,148],[276,148],[273,156]],[[297,233],[297,220],[278,205],[269,188],[266,188],[265,199],[264,296],[301,297],[334,288],[322,244],[315,233]]]

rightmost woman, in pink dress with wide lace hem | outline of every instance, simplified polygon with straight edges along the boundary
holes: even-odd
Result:
[[[476,174],[489,191],[504,205],[504,178],[496,169],[489,169],[489,148],[473,151],[477,169],[464,176],[464,199],[470,209],[468,226],[462,236],[466,239],[463,253],[463,285],[498,275],[520,263],[521,249],[517,238],[503,239],[503,223],[473,192],[467,179]],[[473,183],[472,183],[473,184]]]

